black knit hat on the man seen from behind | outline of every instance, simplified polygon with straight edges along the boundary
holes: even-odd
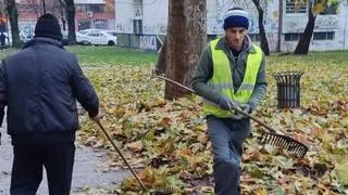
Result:
[[[57,17],[49,13],[41,15],[35,26],[35,37],[62,40],[63,36]]]

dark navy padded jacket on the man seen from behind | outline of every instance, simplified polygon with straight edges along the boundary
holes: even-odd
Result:
[[[8,133],[13,144],[74,141],[76,100],[90,116],[98,115],[95,89],[77,57],[59,41],[34,38],[22,51],[2,60],[0,119],[8,106]]]

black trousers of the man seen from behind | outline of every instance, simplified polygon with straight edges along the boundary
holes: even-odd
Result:
[[[74,143],[14,145],[11,195],[35,195],[45,166],[50,195],[69,195],[75,156]]]

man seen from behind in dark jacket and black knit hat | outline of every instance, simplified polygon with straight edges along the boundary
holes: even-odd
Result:
[[[98,119],[99,100],[75,55],[61,44],[57,17],[38,18],[35,38],[1,62],[0,119],[13,145],[12,195],[36,194],[47,171],[50,195],[71,190],[78,128],[76,100]]]

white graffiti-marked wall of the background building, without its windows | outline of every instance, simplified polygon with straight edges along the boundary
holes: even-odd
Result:
[[[278,0],[266,1],[264,27],[271,51],[275,51],[278,42]],[[167,24],[167,0],[142,1],[142,34],[164,35]],[[285,4],[285,3],[284,3]],[[259,32],[258,12],[252,1],[208,0],[207,2],[207,32],[209,35],[224,34],[223,17],[233,6],[246,9],[250,14],[249,34]],[[283,9],[285,11],[285,9]],[[135,18],[133,0],[115,0],[115,28],[120,32],[133,32]],[[293,52],[297,41],[285,41],[284,34],[302,32],[308,21],[307,14],[283,13],[282,51]],[[334,40],[312,40],[310,50],[339,50],[348,49],[348,5],[340,4],[337,15],[319,15],[314,31],[335,31]],[[258,43],[258,42],[256,42]]]

